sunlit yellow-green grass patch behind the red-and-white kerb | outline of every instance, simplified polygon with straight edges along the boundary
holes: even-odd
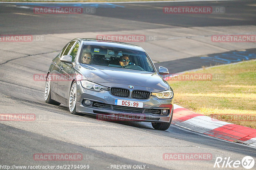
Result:
[[[190,73],[213,76],[211,81],[168,81],[174,91],[174,103],[210,117],[222,116],[222,121],[256,129],[255,119],[241,118],[244,115],[256,117],[256,60]],[[227,115],[240,115],[240,118]]]

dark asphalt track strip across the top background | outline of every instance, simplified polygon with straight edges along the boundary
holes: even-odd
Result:
[[[185,3],[141,3],[141,4],[79,4],[79,7],[96,7],[96,15],[104,20],[85,15],[33,15],[26,8],[1,5],[1,34],[53,34],[69,32],[120,31],[192,26],[255,25],[254,1],[210,1]],[[224,6],[225,14],[172,14],[166,15],[164,6]],[[74,4],[19,4],[19,6],[74,6]],[[15,15],[25,13],[29,15]],[[106,18],[107,17],[107,18]],[[125,19],[121,21],[120,19]],[[138,25],[138,21],[141,24]]]

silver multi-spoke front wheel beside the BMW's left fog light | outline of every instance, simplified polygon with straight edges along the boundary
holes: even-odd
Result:
[[[76,81],[74,81],[71,85],[70,92],[69,92],[69,98],[68,98],[68,108],[71,114],[73,115],[84,115],[82,113],[76,112]]]

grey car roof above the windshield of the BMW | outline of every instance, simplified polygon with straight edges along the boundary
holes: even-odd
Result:
[[[87,38],[79,38],[79,39],[81,41],[84,41],[85,45],[109,46],[109,47],[125,48],[129,50],[144,51],[143,48],[141,48],[140,46],[123,43],[123,42],[103,40],[103,39],[87,39]]]

